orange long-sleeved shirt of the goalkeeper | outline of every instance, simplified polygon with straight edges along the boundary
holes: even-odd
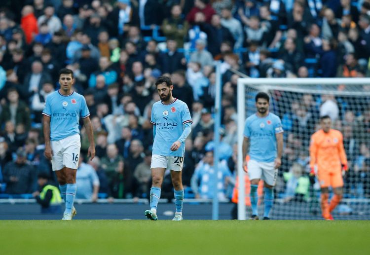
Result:
[[[317,164],[320,171],[341,171],[342,164],[347,164],[343,146],[343,135],[340,131],[331,129],[325,133],[322,129],[311,136],[310,167]]]

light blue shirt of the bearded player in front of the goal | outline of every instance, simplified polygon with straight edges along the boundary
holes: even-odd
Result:
[[[283,133],[281,120],[269,112],[261,118],[256,113],[249,116],[244,125],[244,136],[249,138],[249,156],[258,162],[273,162],[277,155],[275,134]]]

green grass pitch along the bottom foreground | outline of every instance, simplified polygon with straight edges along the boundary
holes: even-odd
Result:
[[[0,254],[370,254],[370,221],[0,220]]]

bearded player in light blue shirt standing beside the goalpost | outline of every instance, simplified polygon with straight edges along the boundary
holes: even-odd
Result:
[[[247,154],[250,156],[248,162],[244,160],[244,166],[248,164],[248,175],[251,180],[250,219],[259,219],[257,189],[260,179],[264,181],[263,219],[270,219],[269,213],[274,201],[273,187],[283,153],[284,131],[280,118],[268,110],[270,101],[268,95],[259,92],[255,100],[257,112],[246,119],[243,140],[243,158],[245,159]]]

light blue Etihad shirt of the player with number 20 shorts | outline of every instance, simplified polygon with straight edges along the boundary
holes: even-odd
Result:
[[[151,109],[150,122],[155,125],[152,153],[160,156],[184,157],[185,143],[182,143],[176,151],[170,148],[183,134],[184,124],[192,122],[186,104],[177,98],[168,105],[158,101]]]

